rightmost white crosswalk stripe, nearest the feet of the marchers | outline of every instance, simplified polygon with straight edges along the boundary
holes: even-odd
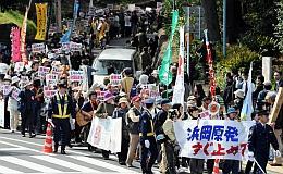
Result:
[[[100,161],[100,160],[96,160],[94,158],[79,157],[79,156],[70,156],[70,158],[83,161],[85,163],[95,164],[95,165],[98,165],[98,166],[110,169],[110,170],[116,171],[119,173],[132,173],[132,174],[137,173],[135,171],[127,170],[127,169],[124,169],[124,167],[121,167],[121,166],[118,166],[118,165],[114,165],[114,164],[110,164],[110,163],[107,163],[107,162],[103,162],[103,161]]]

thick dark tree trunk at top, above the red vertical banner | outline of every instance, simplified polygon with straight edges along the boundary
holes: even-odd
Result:
[[[220,27],[216,0],[201,0],[210,41],[220,41]]]

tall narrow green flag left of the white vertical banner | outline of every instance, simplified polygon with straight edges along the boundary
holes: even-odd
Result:
[[[170,72],[170,64],[172,63],[172,40],[173,40],[174,33],[176,30],[177,18],[179,18],[179,13],[177,11],[174,11],[172,15],[171,36],[169,38],[167,51],[163,55],[162,63],[159,70],[159,79],[162,84],[167,86],[172,82],[172,73]]]

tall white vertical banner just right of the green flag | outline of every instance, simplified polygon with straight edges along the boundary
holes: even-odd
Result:
[[[184,26],[180,27],[180,50],[179,50],[179,67],[177,67],[177,76],[176,76],[176,83],[173,90],[173,103],[184,103],[184,95],[185,95],[185,87],[184,87],[184,58],[185,58],[185,51],[184,51]]]

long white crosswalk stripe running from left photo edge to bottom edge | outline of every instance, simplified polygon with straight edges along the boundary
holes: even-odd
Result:
[[[28,167],[30,170],[39,171],[39,172],[44,172],[44,173],[62,173],[61,171],[58,171],[58,170],[54,170],[51,167],[47,167],[45,165],[40,165],[40,164],[29,162],[26,160],[21,160],[15,157],[0,157],[0,160],[7,161],[7,162],[10,162],[13,164],[22,165],[22,166]]]

